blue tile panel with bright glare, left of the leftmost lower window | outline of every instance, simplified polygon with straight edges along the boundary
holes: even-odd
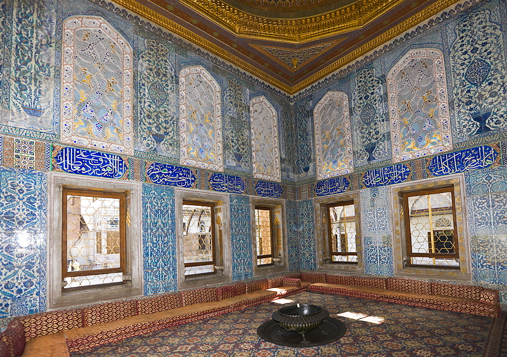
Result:
[[[0,168],[0,318],[46,310],[46,176]]]

